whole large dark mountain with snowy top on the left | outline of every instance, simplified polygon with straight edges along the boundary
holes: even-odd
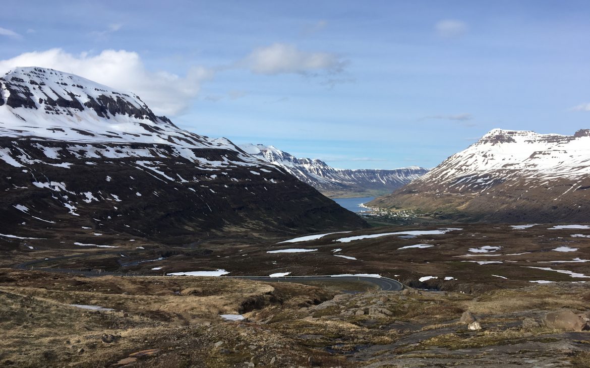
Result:
[[[0,78],[0,173],[4,241],[72,228],[175,242],[364,226],[227,139],[179,129],[135,94],[45,68]]]

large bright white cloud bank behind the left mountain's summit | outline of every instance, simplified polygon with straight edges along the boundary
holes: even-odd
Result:
[[[0,60],[0,73],[14,67],[45,67],[73,73],[123,91],[132,91],[158,115],[175,116],[199,93],[202,81],[212,77],[203,67],[192,67],[185,76],[165,71],[149,71],[136,52],[104,50],[69,54],[60,48],[26,52]]]

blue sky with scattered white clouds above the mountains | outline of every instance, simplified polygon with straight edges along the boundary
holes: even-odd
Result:
[[[588,1],[2,1],[0,73],[51,67],[183,129],[346,169],[494,128],[590,128]]]

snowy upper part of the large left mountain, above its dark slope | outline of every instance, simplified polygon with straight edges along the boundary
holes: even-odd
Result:
[[[237,150],[227,139],[179,129],[136,94],[38,67],[15,68],[0,78],[0,135]]]

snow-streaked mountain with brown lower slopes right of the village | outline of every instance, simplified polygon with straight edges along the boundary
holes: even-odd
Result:
[[[573,136],[494,129],[370,206],[497,221],[590,218],[590,130]]]

